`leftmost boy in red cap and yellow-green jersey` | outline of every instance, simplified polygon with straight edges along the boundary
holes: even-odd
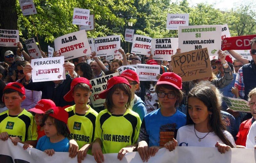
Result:
[[[3,90],[2,101],[8,108],[0,113],[0,139],[5,141],[8,138],[14,145],[28,143],[36,145],[37,132],[34,116],[20,107],[25,100],[25,88],[18,82],[6,85]]]

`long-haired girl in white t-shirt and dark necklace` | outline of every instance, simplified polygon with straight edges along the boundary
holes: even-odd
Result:
[[[164,144],[172,151],[175,146],[217,147],[225,153],[236,144],[226,131],[220,114],[219,90],[209,82],[200,82],[188,93],[187,125],[179,128],[177,137]]]

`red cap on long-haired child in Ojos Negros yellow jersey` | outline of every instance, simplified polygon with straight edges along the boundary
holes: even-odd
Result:
[[[101,92],[99,94],[99,97],[102,99],[106,99],[109,89],[111,89],[114,85],[119,84],[119,83],[127,84],[130,88],[132,88],[131,85],[129,84],[129,82],[127,81],[127,79],[125,79],[124,77],[121,77],[121,76],[114,76],[108,80],[107,89],[104,90],[103,92]]]

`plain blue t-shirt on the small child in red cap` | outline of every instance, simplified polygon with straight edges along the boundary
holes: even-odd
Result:
[[[51,143],[49,137],[42,136],[36,144],[36,149],[40,151],[53,149],[55,152],[68,152],[68,148],[69,148],[68,143],[69,143],[69,140],[67,137],[65,137],[63,140],[57,143]]]

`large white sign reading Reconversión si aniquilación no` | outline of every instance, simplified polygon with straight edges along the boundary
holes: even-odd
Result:
[[[218,56],[221,46],[221,25],[180,26],[179,48],[182,52],[208,48],[209,55]]]

